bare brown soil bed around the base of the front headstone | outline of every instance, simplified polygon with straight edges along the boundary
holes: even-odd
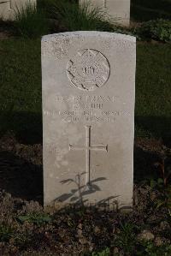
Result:
[[[131,223],[136,236],[149,230],[156,246],[169,244],[168,208],[156,207],[163,194],[148,183],[148,175],[157,173],[155,163],[163,156],[170,164],[170,149],[162,141],[135,141],[131,213],[68,208],[47,218],[42,207],[42,145],[23,145],[13,134],[4,135],[0,140],[0,255],[91,255],[105,247],[111,255],[137,255],[136,245],[133,254],[115,246],[122,223]]]

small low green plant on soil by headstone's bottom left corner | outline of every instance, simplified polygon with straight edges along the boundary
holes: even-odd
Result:
[[[42,225],[44,223],[50,223],[51,217],[45,213],[32,212],[27,215],[21,215],[17,217],[17,219],[21,222],[34,223],[37,225]]]

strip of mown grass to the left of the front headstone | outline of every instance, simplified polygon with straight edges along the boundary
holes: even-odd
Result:
[[[0,133],[13,130],[21,140],[40,141],[40,40],[2,40],[0,51]]]

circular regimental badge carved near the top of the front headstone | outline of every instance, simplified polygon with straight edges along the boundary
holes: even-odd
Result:
[[[101,52],[85,49],[68,62],[67,73],[68,79],[76,88],[94,91],[109,79],[109,62]]]

